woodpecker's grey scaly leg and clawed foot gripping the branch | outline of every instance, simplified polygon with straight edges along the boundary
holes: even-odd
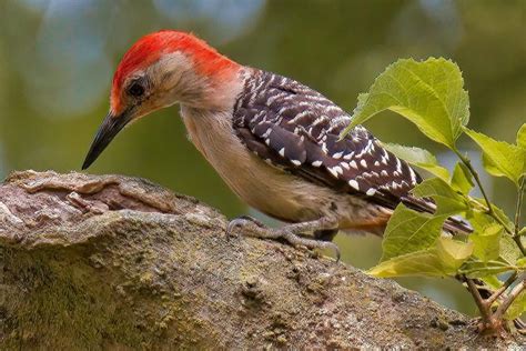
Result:
[[[336,254],[336,261],[340,261],[338,247],[327,241],[323,235],[314,237],[315,239],[302,238],[301,234],[307,231],[314,232],[337,232],[337,221],[328,217],[321,219],[287,224],[279,229],[267,228],[251,217],[241,217],[232,220],[226,227],[226,234],[230,235],[235,228],[242,227],[242,232],[250,237],[260,239],[284,239],[290,244],[297,247],[303,245],[307,249],[331,249]],[[324,240],[325,239],[325,240]]]

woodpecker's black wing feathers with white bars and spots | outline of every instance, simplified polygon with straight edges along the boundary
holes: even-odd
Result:
[[[251,151],[293,174],[391,209],[405,200],[433,212],[426,201],[409,201],[419,176],[365,128],[358,126],[338,140],[350,120],[308,87],[254,71],[234,107],[233,128]]]

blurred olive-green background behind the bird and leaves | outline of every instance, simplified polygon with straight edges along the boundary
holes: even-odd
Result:
[[[79,171],[107,112],[113,69],[129,46],[158,29],[193,31],[232,59],[293,77],[347,111],[396,59],[442,56],[463,70],[472,128],[513,141],[526,120],[524,0],[1,0],[0,177],[22,169]],[[367,127],[382,140],[427,148],[453,166],[452,154],[401,118],[384,113]],[[474,146],[462,144],[478,162]],[[144,177],[229,217],[261,217],[188,142],[178,108],[127,129],[90,172]],[[510,183],[484,182],[512,211]],[[343,260],[360,268],[381,254],[378,238],[338,235],[337,243]],[[401,282],[454,309],[476,311],[454,281]]]

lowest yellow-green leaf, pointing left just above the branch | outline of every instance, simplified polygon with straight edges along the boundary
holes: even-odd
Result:
[[[464,261],[472,254],[471,243],[438,238],[435,245],[381,262],[368,273],[375,277],[447,277],[455,275]]]

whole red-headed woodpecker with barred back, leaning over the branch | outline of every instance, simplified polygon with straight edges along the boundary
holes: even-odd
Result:
[[[382,235],[404,203],[433,213],[411,190],[422,177],[363,126],[341,138],[351,116],[316,90],[284,76],[237,63],[196,36],[161,30],[140,38],[112,81],[110,111],[82,169],[125,126],[179,103],[189,139],[250,207],[285,222],[267,228],[250,217],[227,231],[282,238],[308,249],[334,249],[338,231]],[[451,231],[469,231],[448,219]],[[311,233],[311,235],[307,235]]]

